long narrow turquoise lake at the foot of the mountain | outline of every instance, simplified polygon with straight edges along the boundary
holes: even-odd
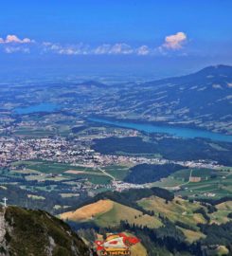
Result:
[[[164,133],[176,137],[194,138],[194,137],[204,137],[210,138],[216,141],[232,142],[232,136],[227,136],[223,134],[213,133],[205,130],[193,129],[193,128],[183,128],[170,125],[154,125],[147,123],[135,123],[130,121],[120,121],[120,120],[108,120],[108,119],[97,119],[90,118],[89,120],[110,124],[118,127],[131,128],[134,130],[146,132],[146,133]]]

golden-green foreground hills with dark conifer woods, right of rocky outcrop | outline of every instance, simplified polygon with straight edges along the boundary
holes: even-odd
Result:
[[[229,198],[197,202],[152,188],[103,192],[61,217],[83,237],[92,229],[134,233],[149,255],[228,255],[231,211]]]

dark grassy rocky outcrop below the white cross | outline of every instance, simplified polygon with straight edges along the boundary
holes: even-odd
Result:
[[[88,256],[88,247],[43,210],[0,209],[0,256]]]

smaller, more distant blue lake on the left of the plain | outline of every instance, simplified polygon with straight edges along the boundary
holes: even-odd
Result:
[[[59,109],[59,106],[55,103],[40,103],[36,105],[31,105],[27,107],[17,107],[14,112],[19,115],[32,114],[37,112],[54,112]]]

